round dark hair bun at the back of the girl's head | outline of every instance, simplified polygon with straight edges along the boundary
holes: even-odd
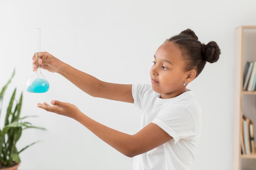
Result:
[[[220,48],[214,41],[211,41],[206,45],[202,44],[202,52],[204,59],[209,63],[217,62],[219,60]]]

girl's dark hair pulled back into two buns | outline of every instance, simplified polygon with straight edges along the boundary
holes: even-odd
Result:
[[[191,29],[182,31],[168,41],[179,46],[186,60],[185,70],[195,69],[196,77],[201,73],[206,62],[217,62],[220,57],[220,48],[216,42],[211,41],[206,45],[201,43]]]

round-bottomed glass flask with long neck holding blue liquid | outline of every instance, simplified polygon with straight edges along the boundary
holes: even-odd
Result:
[[[41,29],[36,28],[36,71],[28,79],[26,83],[26,90],[30,93],[45,93],[49,90],[49,82],[41,73],[41,68],[38,67],[38,60],[40,59],[41,51]]]

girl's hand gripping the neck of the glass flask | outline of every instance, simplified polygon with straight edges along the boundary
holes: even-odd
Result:
[[[54,73],[58,72],[64,64],[61,60],[58,60],[56,57],[47,52],[40,52],[38,56],[38,65],[36,65],[36,53],[34,54],[32,60],[33,71],[36,71],[40,67]]]

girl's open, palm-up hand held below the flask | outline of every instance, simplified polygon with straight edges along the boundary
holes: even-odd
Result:
[[[43,104],[38,103],[37,107],[43,108],[46,111],[57,113],[58,115],[63,115],[75,119],[82,112],[74,104],[60,102],[57,100],[52,100],[51,105],[43,102]]]

